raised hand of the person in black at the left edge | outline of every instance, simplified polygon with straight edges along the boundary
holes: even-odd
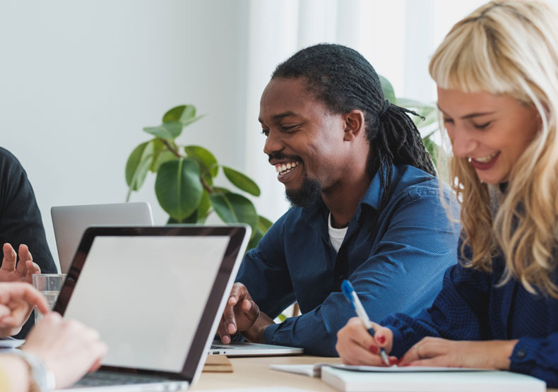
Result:
[[[40,273],[41,269],[33,263],[33,258],[27,245],[19,246],[19,263],[16,268],[16,251],[10,244],[4,244],[4,260],[0,268],[0,282],[27,282],[32,283],[31,276]]]

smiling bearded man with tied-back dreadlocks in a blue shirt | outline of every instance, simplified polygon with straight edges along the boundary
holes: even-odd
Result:
[[[218,328],[223,343],[242,333],[336,355],[336,333],[355,316],[344,279],[373,321],[432,303],[458,229],[408,112],[384,99],[372,66],[348,47],[308,47],[275,69],[259,121],[293,206],[245,256]],[[274,323],[295,301],[302,316]]]

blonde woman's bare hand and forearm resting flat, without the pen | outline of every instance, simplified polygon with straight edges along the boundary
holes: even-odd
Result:
[[[403,355],[400,363],[411,366],[476,367],[509,369],[509,357],[517,340],[447,340],[424,338]]]

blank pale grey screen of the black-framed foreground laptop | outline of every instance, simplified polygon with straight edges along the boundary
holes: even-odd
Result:
[[[180,372],[229,240],[95,237],[64,317],[100,332],[104,365]]]

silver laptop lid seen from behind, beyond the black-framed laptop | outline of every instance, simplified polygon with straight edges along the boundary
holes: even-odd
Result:
[[[68,273],[85,229],[93,225],[153,226],[151,207],[137,203],[55,206],[50,209],[61,273]]]

